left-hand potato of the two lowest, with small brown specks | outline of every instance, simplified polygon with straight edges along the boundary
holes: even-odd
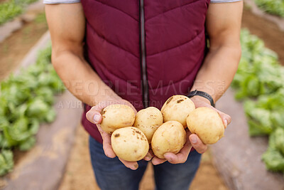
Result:
[[[111,134],[111,147],[117,157],[129,162],[143,159],[149,151],[149,143],[141,130],[124,127]]]

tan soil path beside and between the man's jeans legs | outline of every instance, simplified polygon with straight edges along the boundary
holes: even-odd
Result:
[[[69,162],[67,163],[65,175],[62,179],[59,190],[94,189],[99,190],[99,186],[94,179],[88,149],[88,134],[83,127],[77,128],[75,144],[72,149]],[[140,184],[141,190],[154,189],[153,168],[148,164],[146,173]],[[198,169],[195,179],[192,181],[190,189],[195,190],[226,190],[224,182],[220,178],[212,163],[211,154],[207,151],[202,155],[200,169]]]

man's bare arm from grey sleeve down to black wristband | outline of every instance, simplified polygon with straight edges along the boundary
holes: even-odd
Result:
[[[242,10],[243,1],[209,4],[207,10],[206,29],[210,48],[192,90],[208,93],[214,102],[229,88],[238,68],[241,58],[239,36]],[[203,100],[207,101],[206,98]]]

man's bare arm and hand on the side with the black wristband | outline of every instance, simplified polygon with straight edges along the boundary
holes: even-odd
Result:
[[[216,102],[229,88],[241,58],[239,35],[242,10],[243,1],[209,4],[206,16],[206,29],[210,43],[209,52],[190,91],[204,91],[211,95]],[[212,107],[204,97],[195,96],[191,100],[195,102],[195,107],[210,107],[217,111],[225,128],[231,122],[229,115]],[[166,159],[154,157],[152,163],[154,165],[161,164],[166,160],[173,164],[183,163],[187,160],[192,147],[199,153],[203,153],[207,149],[207,145],[203,144],[196,134],[190,134],[187,131],[187,142],[178,154],[168,152],[164,155]]]

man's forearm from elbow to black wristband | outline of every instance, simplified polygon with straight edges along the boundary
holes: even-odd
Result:
[[[221,46],[209,51],[191,90],[201,90],[213,97],[216,102],[234,78],[241,58],[241,47]]]

